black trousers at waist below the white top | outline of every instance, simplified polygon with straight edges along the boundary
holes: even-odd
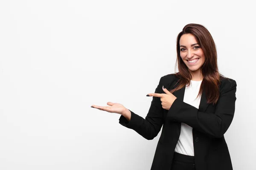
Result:
[[[195,170],[194,156],[174,153],[171,170]]]

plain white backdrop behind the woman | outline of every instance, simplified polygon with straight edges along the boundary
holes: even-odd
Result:
[[[90,106],[118,102],[145,118],[188,23],[210,31],[220,73],[237,82],[224,136],[233,169],[255,170],[251,2],[1,0],[0,170],[149,170],[160,133],[146,140]]]

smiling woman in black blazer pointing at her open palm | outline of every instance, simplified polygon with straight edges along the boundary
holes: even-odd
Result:
[[[177,36],[179,72],[160,78],[143,119],[119,103],[96,106],[121,114],[119,123],[151,140],[160,132],[151,170],[232,170],[224,133],[236,102],[236,81],[218,71],[211,34],[188,24]]]

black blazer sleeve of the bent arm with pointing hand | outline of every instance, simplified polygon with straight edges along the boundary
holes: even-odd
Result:
[[[213,138],[220,138],[230,126],[235,113],[236,81],[231,79],[222,85],[215,113],[201,112],[198,108],[175,99],[167,118],[183,122]]]

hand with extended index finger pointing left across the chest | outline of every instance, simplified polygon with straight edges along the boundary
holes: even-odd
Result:
[[[162,87],[163,88],[163,87]],[[162,104],[162,108],[169,110],[172,106],[172,103],[175,101],[175,99],[177,99],[176,96],[174,96],[171,92],[169,92],[166,88],[163,88],[163,91],[166,94],[163,93],[150,93],[148,94],[149,96],[154,96],[154,97],[160,97],[161,99],[161,104]]]

